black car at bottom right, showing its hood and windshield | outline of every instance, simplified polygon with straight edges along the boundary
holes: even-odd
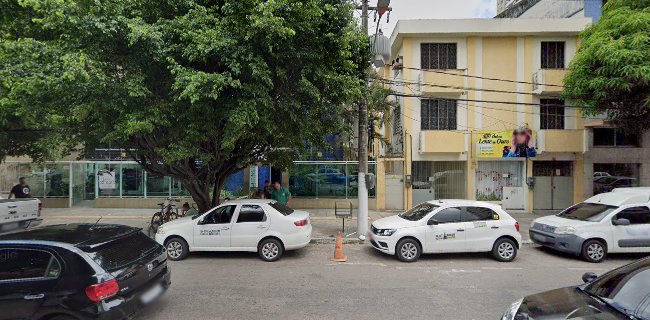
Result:
[[[503,320],[650,319],[650,258],[600,277],[582,276],[585,284],[525,297],[513,303]]]

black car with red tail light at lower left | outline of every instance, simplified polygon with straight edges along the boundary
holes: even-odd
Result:
[[[170,285],[141,229],[62,224],[0,235],[0,319],[124,319]]]

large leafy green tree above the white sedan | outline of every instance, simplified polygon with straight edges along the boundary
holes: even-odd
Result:
[[[66,152],[109,141],[200,211],[232,173],[344,130],[366,36],[340,0],[0,0],[0,111]],[[34,121],[29,123],[34,124]]]

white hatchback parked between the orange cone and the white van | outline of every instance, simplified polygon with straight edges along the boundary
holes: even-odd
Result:
[[[492,252],[503,262],[517,256],[519,223],[500,206],[470,200],[424,202],[402,214],[379,219],[368,232],[377,250],[404,262],[422,253]]]

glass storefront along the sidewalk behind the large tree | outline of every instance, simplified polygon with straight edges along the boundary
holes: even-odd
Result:
[[[7,164],[4,164],[7,166]],[[76,204],[95,198],[167,198],[187,197],[182,180],[151,174],[133,161],[71,161],[46,164],[12,163],[11,172],[4,173],[7,191],[27,178],[32,194],[39,198],[72,198]],[[260,167],[258,186],[270,179],[271,168]],[[375,174],[376,164],[368,164]],[[259,173],[258,172],[258,173]],[[280,180],[281,170],[273,170]],[[289,190],[294,197],[351,199],[357,197],[356,162],[296,162],[288,170]],[[234,199],[245,195],[244,171],[226,180],[221,197]],[[16,181],[16,182],[14,182]],[[72,190],[72,194],[70,194]],[[369,196],[375,196],[375,189]]]

